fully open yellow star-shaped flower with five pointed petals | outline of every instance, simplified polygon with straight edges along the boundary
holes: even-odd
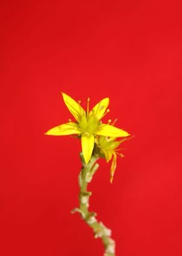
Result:
[[[90,157],[92,156],[96,135],[114,137],[129,136],[129,133],[122,129],[116,128],[108,123],[101,123],[101,118],[109,112],[109,110],[107,110],[109,98],[99,101],[91,111],[89,111],[90,99],[88,99],[87,110],[85,112],[80,105],[80,101],[77,103],[66,93],[62,93],[62,97],[68,110],[70,110],[76,121],[69,121],[68,123],[53,127],[47,131],[45,135],[61,136],[74,134],[81,136],[81,146],[86,164],[88,164]]]

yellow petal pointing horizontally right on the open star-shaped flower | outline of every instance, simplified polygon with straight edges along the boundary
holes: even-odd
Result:
[[[119,129],[119,128],[114,127],[112,125],[107,125],[105,123],[101,123],[100,125],[98,125],[96,131],[94,131],[94,134],[109,136],[109,137],[126,137],[126,136],[129,136],[129,133],[127,133],[127,131],[123,131],[122,129]]]

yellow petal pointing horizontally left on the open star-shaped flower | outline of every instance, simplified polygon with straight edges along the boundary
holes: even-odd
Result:
[[[54,136],[61,136],[61,135],[75,135],[80,134],[81,131],[79,131],[79,126],[77,123],[69,122],[64,123],[62,125],[58,125],[56,127],[53,127],[45,135],[54,135]]]

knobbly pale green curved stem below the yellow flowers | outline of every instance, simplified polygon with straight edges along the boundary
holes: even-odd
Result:
[[[73,212],[79,212],[81,217],[86,221],[88,226],[90,226],[94,231],[95,238],[101,238],[105,253],[104,256],[116,256],[115,255],[115,241],[110,238],[111,231],[102,222],[98,222],[96,219],[95,212],[89,212],[89,198],[92,195],[92,192],[87,191],[88,183],[91,182],[94,173],[99,167],[99,164],[96,163],[98,160],[98,155],[92,155],[90,162],[86,165],[83,154],[81,153],[81,162],[83,167],[79,174],[79,208],[75,208]]]

